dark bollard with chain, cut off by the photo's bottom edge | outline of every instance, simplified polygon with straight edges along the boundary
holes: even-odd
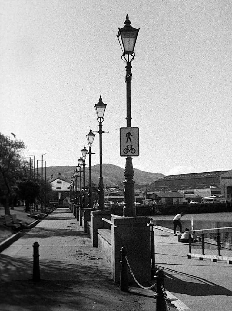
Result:
[[[156,298],[156,311],[167,311],[166,308],[166,301],[165,301],[165,297],[163,294],[163,290],[162,290],[162,286],[164,288],[164,278],[165,278],[165,274],[163,272],[163,270],[157,270],[155,272],[155,276],[154,279],[156,280],[156,292],[154,294],[155,298]]]

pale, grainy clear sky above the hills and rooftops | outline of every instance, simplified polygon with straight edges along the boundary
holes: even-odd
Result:
[[[128,14],[140,28],[133,167],[165,175],[232,169],[231,11],[230,0],[0,1],[0,132],[25,142],[25,157],[46,153],[46,166],[77,165],[86,134],[99,129],[101,95],[103,163],[124,168],[126,71],[117,34]],[[92,152],[99,164],[98,133]]]

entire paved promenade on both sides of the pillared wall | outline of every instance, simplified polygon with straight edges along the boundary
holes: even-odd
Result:
[[[188,244],[154,231],[156,265],[165,271],[166,289],[178,310],[230,311],[232,266],[187,259]],[[32,281],[35,241],[40,245],[40,282]],[[1,311],[155,310],[152,290],[130,287],[129,293],[121,292],[111,280],[108,262],[91,247],[69,209],[57,209],[4,250],[0,273]]]

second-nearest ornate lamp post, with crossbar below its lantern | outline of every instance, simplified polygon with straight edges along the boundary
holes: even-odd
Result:
[[[99,133],[99,156],[100,156],[100,177],[99,177],[99,185],[98,185],[98,209],[99,211],[105,210],[104,205],[104,184],[103,184],[103,177],[102,177],[102,133],[109,133],[102,131],[102,122],[104,121],[104,113],[105,113],[106,104],[102,102],[102,98],[100,95],[99,102],[95,104],[95,109],[97,113],[97,121],[99,123],[99,131],[94,133]]]

